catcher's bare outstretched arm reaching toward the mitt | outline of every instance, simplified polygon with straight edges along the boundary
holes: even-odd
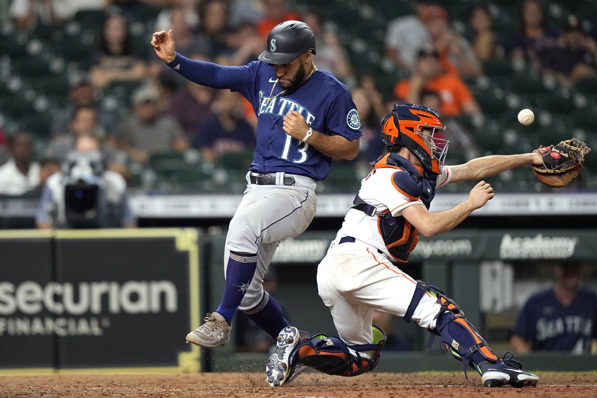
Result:
[[[520,155],[484,156],[461,165],[450,166],[452,172],[450,184],[467,180],[481,180],[518,166],[542,164],[541,156],[537,152],[521,153]]]

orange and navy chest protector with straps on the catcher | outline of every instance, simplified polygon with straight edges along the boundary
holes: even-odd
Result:
[[[392,184],[408,198],[412,200],[420,199],[425,207],[429,209],[435,196],[437,174],[417,168],[397,153],[380,156],[374,162],[373,171],[371,172],[375,172],[379,168],[401,170],[402,172],[394,173]],[[353,205],[353,209],[360,210],[371,217],[377,215],[377,228],[387,251],[392,255],[393,260],[406,263],[410,253],[417,246],[418,230],[401,215],[393,217],[389,211],[377,212],[374,206],[365,203],[358,194],[353,200]]]

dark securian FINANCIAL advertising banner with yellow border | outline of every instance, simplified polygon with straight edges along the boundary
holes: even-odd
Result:
[[[56,231],[0,248],[16,253],[2,261],[0,368],[199,371],[184,340],[199,324],[196,230]]]

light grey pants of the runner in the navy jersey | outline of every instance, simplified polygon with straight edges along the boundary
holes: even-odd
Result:
[[[247,188],[230,221],[224,252],[224,276],[230,251],[257,253],[257,269],[239,310],[250,310],[263,295],[263,277],[282,239],[300,235],[315,217],[315,192],[281,186]]]

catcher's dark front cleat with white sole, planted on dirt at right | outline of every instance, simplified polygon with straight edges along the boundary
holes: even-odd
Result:
[[[510,384],[512,387],[534,387],[539,381],[539,377],[532,373],[522,371],[522,364],[517,360],[506,359],[495,363],[481,362],[481,381],[485,387],[501,387]]]

